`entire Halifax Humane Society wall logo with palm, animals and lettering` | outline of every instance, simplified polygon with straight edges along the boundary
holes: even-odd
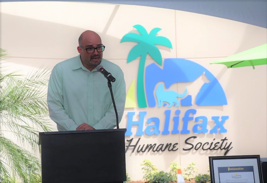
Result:
[[[165,121],[164,129],[160,130],[160,120],[158,117],[148,118],[146,123],[148,125],[145,130],[143,130],[146,111],[139,111],[138,114],[135,112],[128,112],[127,120],[127,131],[125,136],[133,135],[131,131],[133,125],[137,125],[136,136],[141,135],[169,135],[169,134],[188,134],[188,122],[202,122],[197,123],[193,126],[192,131],[195,134],[199,133],[226,133],[227,130],[223,126],[224,122],[229,118],[229,116],[212,116],[211,120],[214,122],[212,129],[208,130],[208,118],[206,116],[193,117],[197,113],[196,109],[188,109],[184,113],[184,116],[181,117],[183,121],[183,128],[181,131],[178,130],[178,125],[180,121],[181,110],[180,106],[215,106],[215,105],[227,105],[226,95],[221,87],[220,83],[214,77],[214,75],[204,68],[203,66],[182,58],[166,58],[164,59],[164,64],[162,63],[161,53],[156,45],[166,46],[172,48],[171,41],[168,38],[163,36],[157,36],[156,34],[160,31],[160,28],[153,28],[150,33],[141,25],[135,25],[134,28],[139,33],[130,32],[123,36],[121,43],[123,42],[136,42],[131,51],[129,52],[127,63],[134,61],[136,58],[140,57],[137,83],[135,84],[135,79],[132,81],[129,90],[126,95],[126,105],[125,108],[136,108],[145,109],[145,108],[163,108],[165,109]],[[153,61],[152,63],[145,67],[147,54],[151,56]],[[163,65],[163,66],[162,66]],[[160,67],[162,66],[162,67]],[[188,83],[192,85],[194,83],[199,83],[199,90],[192,95],[192,91],[188,88],[183,88],[181,93],[173,91],[170,89],[171,85],[179,83]],[[202,82],[202,83],[201,83]],[[136,88],[135,88],[136,87]],[[136,95],[135,95],[136,93]],[[137,97],[137,102],[136,102]],[[174,106],[175,112],[173,117],[173,122],[171,120],[171,107]],[[166,110],[168,109],[168,110]],[[139,115],[139,120],[134,121],[134,115]],[[153,122],[153,123],[152,123]],[[172,125],[171,125],[172,124]],[[169,126],[173,126],[173,130],[169,130]],[[189,137],[187,140],[195,139],[196,136]],[[139,138],[140,140],[140,138]],[[138,142],[139,142],[138,140]],[[215,139],[214,139],[215,140]],[[220,149],[230,150],[229,146],[226,145],[223,147],[223,143],[227,141],[226,137],[220,142]],[[133,143],[133,139],[129,141],[129,146]],[[136,143],[136,145],[138,144]],[[208,143],[208,142],[206,142]],[[206,144],[205,143],[205,144]],[[190,144],[186,142],[186,144]],[[210,143],[212,146],[213,142]],[[226,142],[227,144],[227,142]],[[129,146],[126,148],[128,150]],[[193,145],[192,145],[193,146]],[[210,146],[209,150],[212,150]],[[134,148],[135,149],[135,148]],[[151,148],[150,148],[151,149]],[[174,147],[172,150],[175,149]],[[178,148],[177,148],[178,149]],[[176,150],[177,150],[176,149]],[[202,147],[203,149],[203,147]],[[161,148],[162,150],[162,148]],[[170,151],[170,149],[168,149]],[[204,149],[203,149],[204,150]],[[214,150],[214,148],[213,148]],[[157,151],[157,149],[156,149]],[[143,151],[142,151],[143,152]],[[227,151],[228,152],[228,151]],[[226,152],[226,153],[227,153]]]

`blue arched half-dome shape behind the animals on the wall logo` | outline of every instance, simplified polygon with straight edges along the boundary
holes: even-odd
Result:
[[[157,83],[163,81],[166,88],[174,83],[193,82],[205,72],[210,82],[204,83],[196,95],[196,105],[227,105],[226,95],[217,78],[203,66],[183,58],[164,59],[163,69],[152,63],[146,67],[145,88],[149,107],[156,106],[154,90]],[[181,100],[181,106],[189,106],[190,98]]]

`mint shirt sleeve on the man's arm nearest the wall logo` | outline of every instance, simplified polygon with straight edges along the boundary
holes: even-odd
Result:
[[[116,109],[118,112],[118,119],[119,119],[119,122],[121,122],[121,119],[124,113],[124,107],[125,107],[126,85],[125,85],[125,80],[124,80],[124,74],[120,68],[118,70],[118,75],[117,75],[115,82],[117,82],[116,85],[114,85],[115,87],[113,87],[112,83],[111,85],[112,85],[112,91],[114,95]],[[93,127],[96,130],[113,129],[114,127],[116,127],[116,125],[117,125],[116,114],[115,114],[113,103],[111,102],[108,112]]]

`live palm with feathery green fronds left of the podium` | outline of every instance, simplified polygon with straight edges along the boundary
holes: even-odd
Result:
[[[0,56],[6,57],[1,48]],[[33,70],[26,78],[5,72],[0,72],[0,182],[38,183],[39,132],[51,130],[46,103],[50,72]]]

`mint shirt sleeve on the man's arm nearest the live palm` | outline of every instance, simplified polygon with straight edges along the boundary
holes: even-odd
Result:
[[[76,130],[78,125],[70,119],[63,106],[63,83],[61,66],[57,64],[50,75],[47,91],[50,118],[56,122],[59,131]]]

